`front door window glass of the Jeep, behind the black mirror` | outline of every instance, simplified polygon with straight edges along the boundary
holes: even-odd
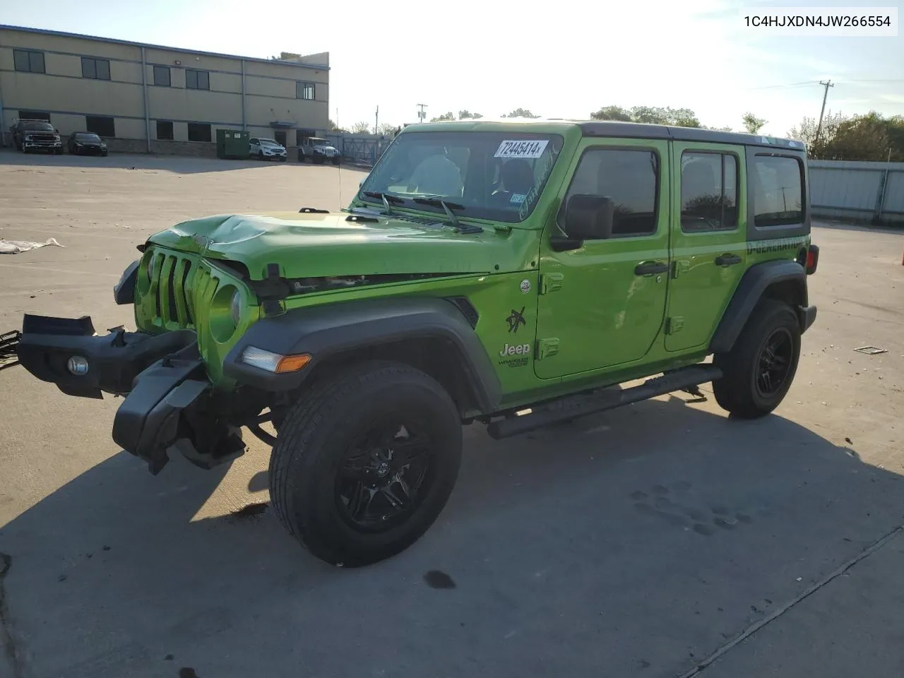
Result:
[[[562,202],[559,225],[572,195],[603,195],[615,202],[612,237],[656,232],[659,156],[649,150],[595,148],[580,158]]]

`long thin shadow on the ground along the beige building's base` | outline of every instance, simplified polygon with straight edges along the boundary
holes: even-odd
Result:
[[[156,170],[173,172],[174,174],[205,174],[210,172],[230,172],[255,167],[273,167],[276,165],[297,165],[297,160],[290,157],[286,162],[259,160],[258,158],[220,159],[202,158],[190,155],[151,155],[110,153],[106,157],[99,155],[71,155],[68,151],[63,155],[33,153],[25,155],[14,149],[0,149],[0,166],[27,165],[36,169],[41,167],[80,167],[80,168],[118,168],[136,170]]]

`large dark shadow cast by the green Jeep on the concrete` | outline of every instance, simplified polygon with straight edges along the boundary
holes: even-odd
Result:
[[[855,449],[710,409],[468,428],[438,522],[360,570],[235,489],[260,466],[110,457],[0,530],[7,645],[22,676],[69,678],[682,673],[904,515],[900,476]]]

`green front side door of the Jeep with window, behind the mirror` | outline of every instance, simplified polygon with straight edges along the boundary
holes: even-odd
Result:
[[[612,237],[556,252],[543,234],[534,370],[541,379],[623,366],[650,351],[663,326],[669,265],[665,140],[585,139],[561,204],[571,195],[615,202]]]

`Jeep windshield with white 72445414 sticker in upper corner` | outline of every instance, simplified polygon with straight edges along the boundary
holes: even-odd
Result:
[[[445,212],[417,197],[461,206],[459,216],[524,221],[533,211],[561,152],[559,135],[528,132],[409,132],[396,137],[361,188],[359,199]]]

